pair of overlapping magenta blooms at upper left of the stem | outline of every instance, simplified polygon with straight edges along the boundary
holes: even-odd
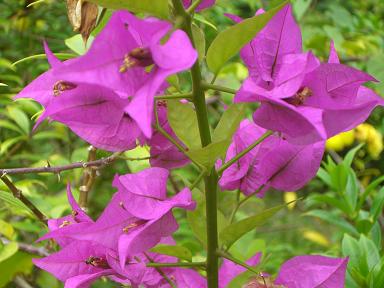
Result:
[[[152,136],[154,96],[166,78],[197,59],[188,36],[171,29],[166,21],[115,12],[83,56],[61,63],[46,45],[52,69],[15,98],[44,106],[38,123],[49,117],[97,148],[132,149]]]

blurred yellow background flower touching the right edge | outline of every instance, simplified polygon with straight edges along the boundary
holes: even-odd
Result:
[[[356,139],[367,144],[369,155],[377,159],[383,151],[383,136],[370,124],[364,123],[356,127]]]

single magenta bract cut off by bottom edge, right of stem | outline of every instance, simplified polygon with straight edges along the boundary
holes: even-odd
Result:
[[[280,268],[275,284],[287,288],[343,288],[348,258],[297,256]]]

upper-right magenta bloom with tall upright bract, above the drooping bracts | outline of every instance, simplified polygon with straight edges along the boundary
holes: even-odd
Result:
[[[315,143],[350,130],[384,104],[362,86],[375,81],[372,76],[336,63],[335,51],[332,63],[320,63],[301,46],[287,5],[243,48],[250,76],[235,102],[261,102],[254,114],[259,126],[281,132],[290,142]]]

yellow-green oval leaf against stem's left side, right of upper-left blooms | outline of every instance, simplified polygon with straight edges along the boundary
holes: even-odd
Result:
[[[178,100],[168,103],[168,121],[176,136],[189,148],[201,148],[196,112],[189,104]]]

